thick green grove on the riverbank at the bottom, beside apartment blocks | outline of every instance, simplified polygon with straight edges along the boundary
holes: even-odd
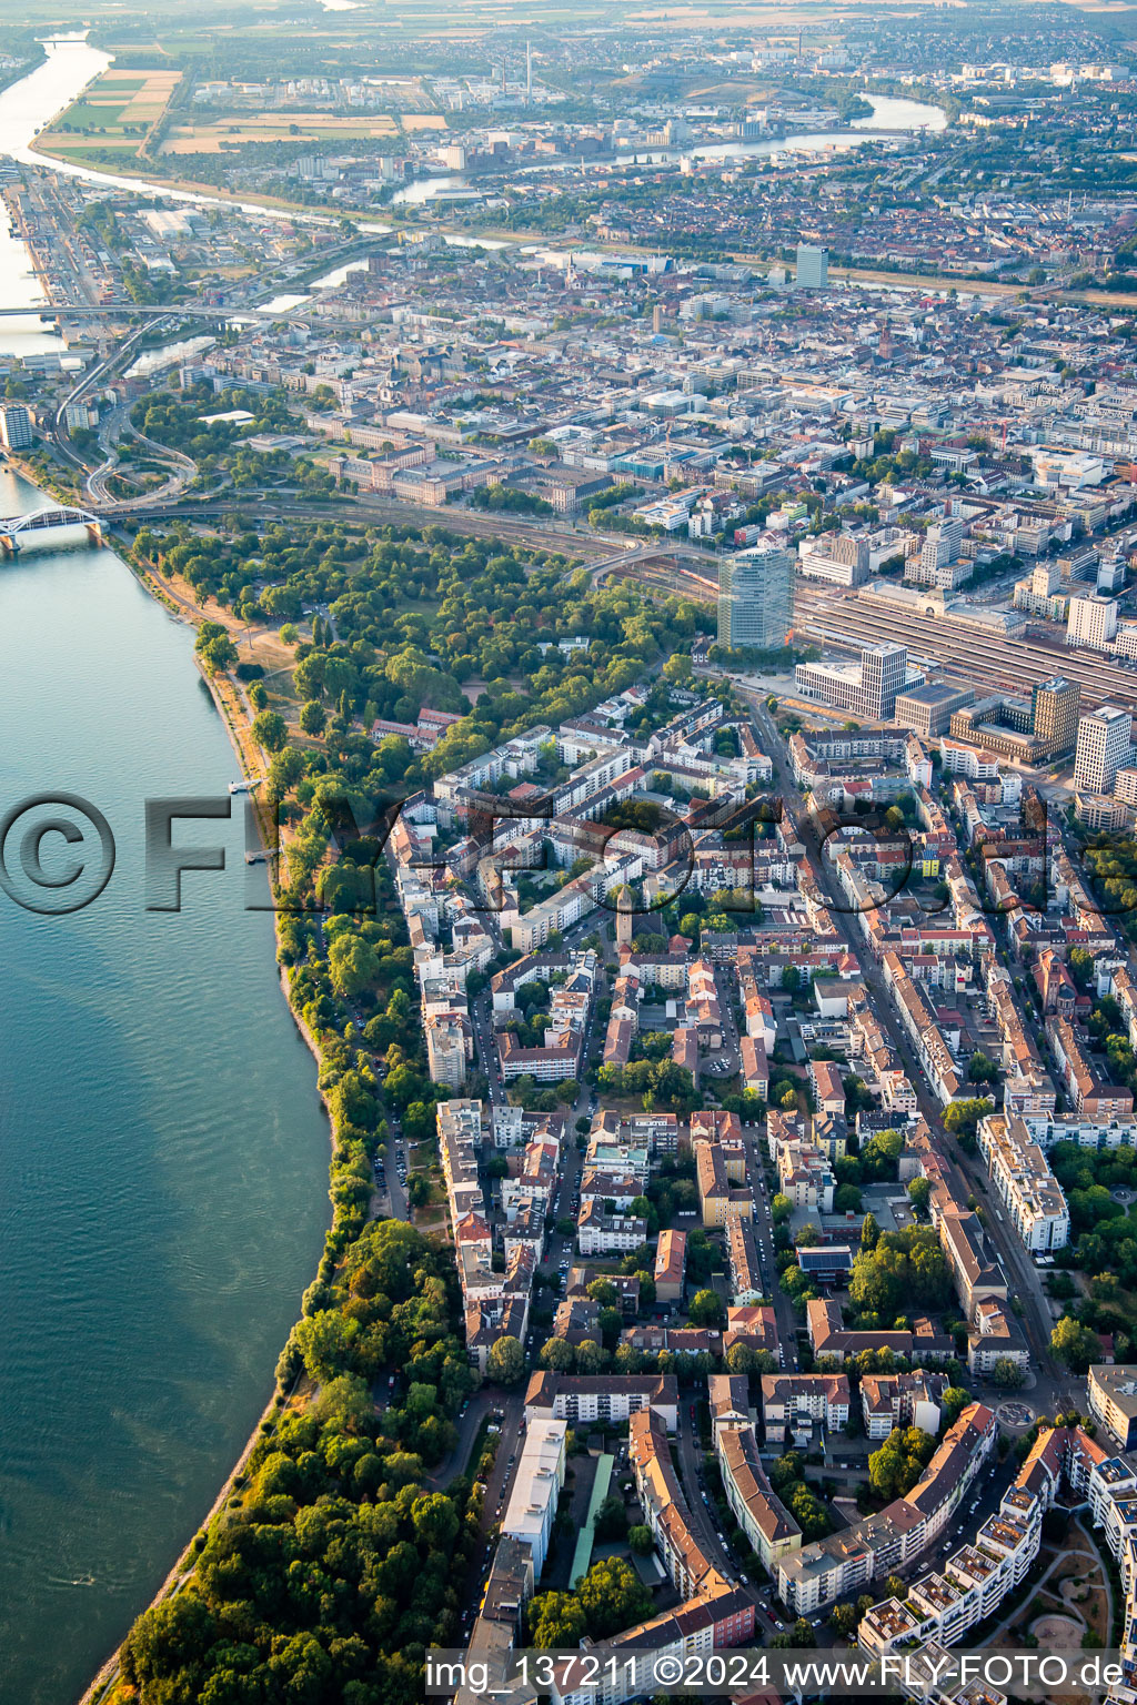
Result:
[[[135,1623],[123,1674],[143,1705],[411,1705],[426,1645],[457,1639],[477,1504],[465,1480],[423,1485],[470,1388],[453,1263],[373,1221],[317,1289],[286,1355],[319,1396],[257,1442],[193,1584]],[[368,1381],[392,1371],[380,1413]]]

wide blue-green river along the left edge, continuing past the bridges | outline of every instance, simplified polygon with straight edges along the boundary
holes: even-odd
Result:
[[[32,78],[0,95],[0,150],[75,92],[63,66],[34,73],[38,111]],[[36,300],[0,220],[0,305]],[[0,319],[0,351],[61,348],[32,327]],[[0,471],[2,515],[43,503]],[[143,801],[228,800],[237,776],[191,631],[111,551],[0,558],[0,812],[65,789],[118,844],[77,916],[0,893],[0,1702],[72,1705],[271,1393],[327,1127],[271,917],[245,910],[240,801],[176,830],[228,871],[145,910]]]

